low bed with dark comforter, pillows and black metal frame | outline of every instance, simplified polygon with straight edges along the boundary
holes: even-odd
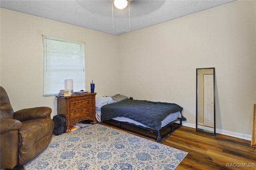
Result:
[[[157,141],[182,126],[182,110],[175,103],[132,100],[124,95],[96,98],[96,118],[100,123]]]

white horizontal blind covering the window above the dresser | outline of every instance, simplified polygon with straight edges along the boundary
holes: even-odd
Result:
[[[74,91],[85,89],[84,43],[42,35],[44,45],[44,96],[57,95],[66,79]]]

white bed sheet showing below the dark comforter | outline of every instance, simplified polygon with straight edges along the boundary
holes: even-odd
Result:
[[[179,115],[180,115],[180,112],[176,112],[176,113],[172,113],[172,114],[168,115],[163,121],[161,121],[162,122],[161,128],[168,125],[172,121],[175,121],[176,119],[178,119]],[[96,110],[96,119],[99,122],[100,122],[100,118],[101,118],[101,111]],[[136,122],[136,121],[126,118],[126,117],[115,117],[113,119],[116,121],[128,122],[128,123],[132,123],[132,124],[139,125],[142,127],[147,127],[147,126],[143,125],[142,123]]]

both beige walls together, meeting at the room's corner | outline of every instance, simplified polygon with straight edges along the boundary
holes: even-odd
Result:
[[[86,42],[86,87],[97,96],[177,103],[196,123],[196,68],[215,67],[217,133],[248,138],[256,103],[256,2],[238,1],[113,36],[1,8],[1,80],[15,111],[42,97],[42,34]],[[131,23],[132,26],[132,23]],[[118,49],[116,47],[118,46]]]

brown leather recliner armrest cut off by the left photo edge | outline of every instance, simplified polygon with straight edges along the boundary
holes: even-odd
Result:
[[[1,119],[0,120],[0,134],[18,130],[22,127],[22,123],[16,119]]]

